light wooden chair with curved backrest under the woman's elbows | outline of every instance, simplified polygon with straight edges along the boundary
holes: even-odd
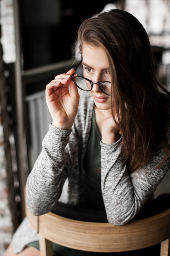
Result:
[[[161,243],[161,256],[170,256],[170,209],[124,226],[84,222],[54,213],[26,216],[40,235],[41,256],[53,256],[52,242],[88,252],[126,252]]]

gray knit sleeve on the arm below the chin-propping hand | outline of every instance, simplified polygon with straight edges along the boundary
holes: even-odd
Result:
[[[124,225],[129,222],[154,193],[170,168],[170,157],[158,169],[163,148],[151,157],[148,164],[130,175],[121,157],[121,139],[114,144],[101,142],[101,186],[108,222]]]

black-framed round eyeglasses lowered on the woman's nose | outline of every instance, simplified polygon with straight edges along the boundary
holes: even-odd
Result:
[[[110,91],[111,91],[111,82],[109,81],[102,81],[102,82],[97,82],[97,83],[93,83],[93,81],[91,81],[88,78],[85,78],[83,76],[75,76],[77,70],[79,69],[79,67],[81,66],[82,61],[79,62],[79,64],[77,65],[77,67],[75,68],[75,73],[71,76],[71,79],[73,80],[73,82],[75,83],[75,85],[85,91],[85,92],[90,92],[93,88],[94,84],[98,84],[99,88],[102,92],[104,92],[106,95],[110,96]],[[82,70],[80,71],[80,74],[83,75]]]

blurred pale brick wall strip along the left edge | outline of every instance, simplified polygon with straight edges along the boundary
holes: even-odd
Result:
[[[11,48],[13,48],[13,40],[11,40],[11,37],[13,37],[13,7],[12,7],[12,0],[0,0],[0,22],[2,25],[2,34],[1,37],[1,43],[4,43],[4,45],[9,46],[9,42],[11,41]],[[3,15],[2,15],[3,14]],[[5,28],[4,25],[5,24]],[[11,25],[12,26],[11,26]],[[6,31],[4,33],[4,31]],[[1,31],[0,31],[1,32]],[[7,37],[8,35],[8,37]],[[8,39],[7,39],[8,38]],[[13,38],[12,38],[13,39]],[[8,47],[8,53],[9,56],[13,57],[12,50],[10,47]],[[5,53],[7,51],[5,50]],[[15,51],[13,51],[15,52]],[[4,94],[2,93],[2,88],[4,86],[4,78],[3,78],[3,71],[4,71],[4,63],[2,61],[2,54],[4,54],[4,51],[2,50],[2,47],[0,47],[0,256],[4,255],[4,252],[6,251],[7,247],[9,246],[9,243],[11,242],[11,238],[13,235],[13,222],[12,222],[12,216],[11,211],[9,207],[9,189],[8,189],[8,177],[7,174],[7,166],[6,166],[6,157],[5,157],[5,144],[4,144],[4,133],[3,133],[3,125],[4,120],[2,120],[1,116],[2,112],[6,112],[4,109],[5,107],[2,106],[2,101],[4,102]],[[5,54],[3,56],[5,60],[7,61],[8,55]],[[13,61],[13,59],[8,59],[9,61]],[[4,104],[5,105],[5,104]],[[3,110],[2,110],[3,109]],[[2,110],[2,112],[1,112]],[[7,120],[6,120],[7,121]],[[3,122],[3,124],[2,124]]]

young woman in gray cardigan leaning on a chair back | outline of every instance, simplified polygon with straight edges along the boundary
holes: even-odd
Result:
[[[78,45],[79,67],[46,85],[53,122],[27,179],[28,206],[39,216],[62,201],[125,225],[170,168],[170,93],[157,81],[148,35],[130,13],[114,9],[84,20]],[[54,252],[97,255],[57,245]],[[5,256],[17,253],[40,255],[26,218]]]

